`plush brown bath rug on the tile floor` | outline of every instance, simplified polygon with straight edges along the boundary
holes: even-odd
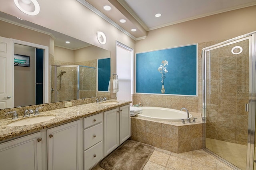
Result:
[[[153,152],[153,146],[126,140],[100,162],[100,167],[105,170],[142,170]]]

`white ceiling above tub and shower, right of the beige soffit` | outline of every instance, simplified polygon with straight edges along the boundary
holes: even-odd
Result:
[[[256,0],[118,0],[126,10],[135,14],[146,26],[153,30],[204,16],[256,5]],[[162,16],[155,17],[160,13]],[[139,21],[139,22],[141,22]]]

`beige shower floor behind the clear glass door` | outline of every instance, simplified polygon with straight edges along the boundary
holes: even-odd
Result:
[[[242,170],[246,169],[247,145],[206,138],[206,148]]]

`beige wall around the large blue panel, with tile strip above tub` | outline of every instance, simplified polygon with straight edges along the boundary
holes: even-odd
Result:
[[[201,112],[202,48],[256,31],[255,16],[256,6],[251,6],[149,31],[146,39],[136,41],[135,53],[198,43],[198,97],[134,94],[133,104],[141,100],[144,106]]]

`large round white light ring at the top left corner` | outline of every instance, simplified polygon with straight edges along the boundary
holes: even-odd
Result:
[[[37,0],[14,0],[15,5],[25,14],[34,16],[40,11]]]

